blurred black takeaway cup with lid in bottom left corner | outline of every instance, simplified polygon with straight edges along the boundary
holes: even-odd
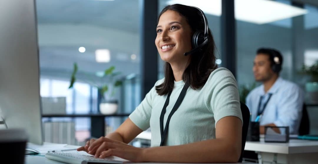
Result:
[[[27,135],[22,129],[0,130],[0,155],[10,163],[24,164]]]

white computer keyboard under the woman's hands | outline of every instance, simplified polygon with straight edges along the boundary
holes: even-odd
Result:
[[[46,153],[45,158],[70,164],[89,164],[89,163],[123,163],[122,161],[95,158],[92,155],[71,154],[71,153]]]

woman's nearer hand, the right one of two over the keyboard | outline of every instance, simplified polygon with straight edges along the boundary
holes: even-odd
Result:
[[[89,144],[88,153],[96,158],[117,156],[133,162],[142,162],[142,148],[136,148],[126,143],[115,141],[107,137],[100,137]]]

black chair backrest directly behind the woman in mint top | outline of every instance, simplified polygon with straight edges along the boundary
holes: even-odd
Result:
[[[243,152],[245,148],[247,130],[248,130],[248,125],[250,123],[250,111],[248,110],[248,107],[243,102],[241,102],[241,112],[243,117],[243,127],[242,127],[242,149],[241,149],[241,156],[239,157],[239,162],[242,162],[242,159],[243,159]]]

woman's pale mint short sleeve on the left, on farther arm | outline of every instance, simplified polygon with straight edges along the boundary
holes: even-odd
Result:
[[[158,82],[156,82],[157,84]],[[152,102],[156,93],[156,84],[146,94],[142,102],[129,115],[130,120],[143,131],[150,127],[150,117],[152,110]]]

